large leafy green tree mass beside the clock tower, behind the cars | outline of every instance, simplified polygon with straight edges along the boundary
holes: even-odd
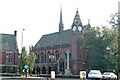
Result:
[[[116,52],[115,30],[109,27],[92,27],[84,32],[83,49],[88,53],[88,65],[92,69],[114,69],[112,55]],[[107,50],[107,47],[110,50]],[[114,53],[114,54],[113,54]],[[110,58],[109,58],[110,56]]]

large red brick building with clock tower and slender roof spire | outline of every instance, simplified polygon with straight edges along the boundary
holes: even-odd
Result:
[[[83,33],[90,24],[83,26],[78,9],[73,23],[68,30],[64,30],[62,21],[62,9],[60,11],[59,31],[46,34],[33,47],[37,54],[36,67],[40,67],[41,73],[50,73],[51,68],[55,73],[65,73],[67,68],[67,53],[69,53],[69,65],[72,74],[79,74],[80,70],[87,69],[84,65],[87,55],[82,51]]]

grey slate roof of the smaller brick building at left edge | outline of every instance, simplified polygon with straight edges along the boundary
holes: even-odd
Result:
[[[12,34],[0,34],[0,51],[17,51],[16,36]]]

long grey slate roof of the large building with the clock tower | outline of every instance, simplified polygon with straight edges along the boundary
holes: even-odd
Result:
[[[45,46],[55,46],[60,44],[71,44],[71,35],[71,29],[43,35],[33,49],[38,49]]]

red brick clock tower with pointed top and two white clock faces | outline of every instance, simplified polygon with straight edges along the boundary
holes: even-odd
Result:
[[[79,42],[81,40],[81,34],[83,29],[78,9],[73,19],[71,28],[72,28],[72,70],[74,71],[73,74],[78,74],[82,67]]]

